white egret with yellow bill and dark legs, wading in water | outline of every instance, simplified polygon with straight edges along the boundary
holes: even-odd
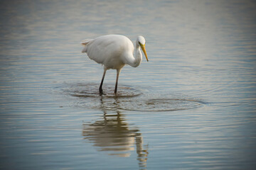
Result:
[[[142,51],[148,60],[145,50],[145,39],[138,36],[136,40],[135,57],[133,56],[134,45],[129,38],[124,35],[103,35],[95,39],[87,39],[81,42],[85,45],[82,52],[86,52],[88,57],[95,62],[104,65],[104,73],[100,84],[100,94],[102,94],[102,84],[107,69],[117,69],[117,80],[114,88],[114,94],[117,94],[117,82],[119,73],[125,64],[132,67],[138,67],[142,62]]]

